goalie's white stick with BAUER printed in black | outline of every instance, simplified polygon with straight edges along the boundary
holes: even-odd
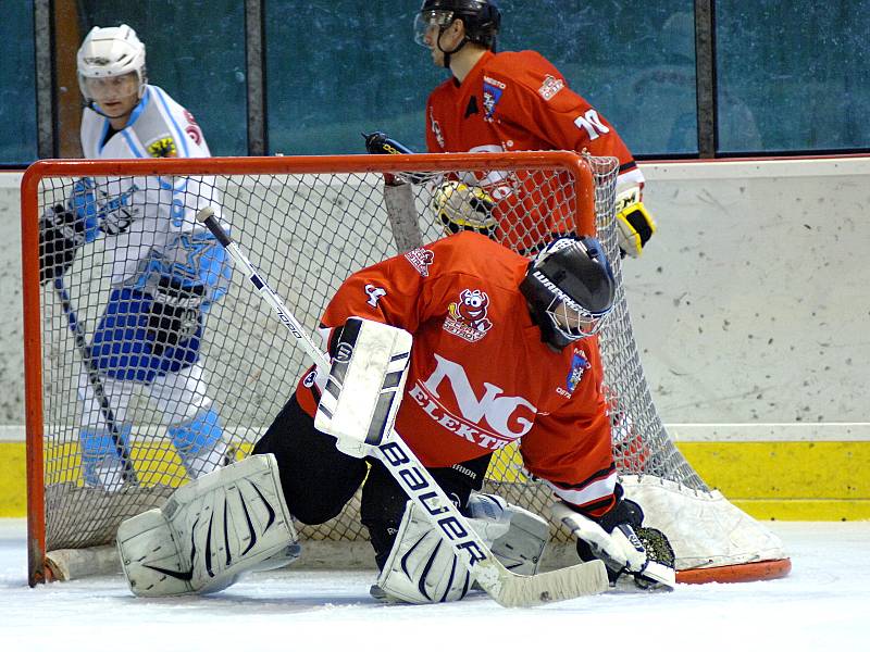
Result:
[[[314,364],[328,369],[330,360],[326,354],[311,340],[311,337],[285,308],[278,296],[221,227],[214,217],[214,211],[210,208],[201,210],[197,214],[197,221],[204,224],[214,235],[233,262],[245,273],[266,303],[272,306],[281,322],[302,346]],[[431,521],[444,541],[453,549],[457,557],[468,568],[478,586],[498,604],[532,606],[571,600],[582,595],[594,595],[607,590],[607,572],[604,563],[597,560],[533,576],[518,575],[508,570],[452,501],[447,498],[444,490],[435,482],[398,432],[391,429],[386,439],[386,442],[373,448],[373,452],[405,489],[408,497],[422,509],[423,514]]]

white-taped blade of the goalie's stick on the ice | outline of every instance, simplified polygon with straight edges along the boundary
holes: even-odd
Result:
[[[610,584],[604,562],[595,560],[538,575],[515,575],[506,570],[496,586],[484,589],[501,606],[535,606],[604,593]],[[483,582],[478,579],[483,586]]]

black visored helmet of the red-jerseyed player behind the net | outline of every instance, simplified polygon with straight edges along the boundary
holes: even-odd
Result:
[[[423,37],[430,25],[437,25],[440,33],[459,18],[465,26],[465,38],[450,54],[458,52],[465,41],[495,51],[501,12],[494,0],[424,0],[417,16],[414,40],[425,46]]]

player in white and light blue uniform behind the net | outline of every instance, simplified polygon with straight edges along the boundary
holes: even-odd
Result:
[[[85,158],[211,155],[190,112],[147,83],[145,46],[127,25],[94,27],[77,67]],[[85,243],[104,238],[111,263],[102,316],[88,344],[79,344],[79,443],[89,486],[111,490],[135,478],[125,417],[136,390],[158,409],[190,477],[229,461],[200,360],[206,314],[229,281],[225,252],[194,220],[206,205],[220,214],[209,181],[82,178],[40,223],[42,280],[52,280],[59,292]]]

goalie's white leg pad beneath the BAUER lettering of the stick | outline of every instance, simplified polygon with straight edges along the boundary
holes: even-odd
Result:
[[[507,522],[469,518],[489,546],[508,529]],[[378,599],[412,604],[452,602],[471,588],[469,572],[450,546],[442,540],[415,503],[408,503],[384,569],[372,587]]]

